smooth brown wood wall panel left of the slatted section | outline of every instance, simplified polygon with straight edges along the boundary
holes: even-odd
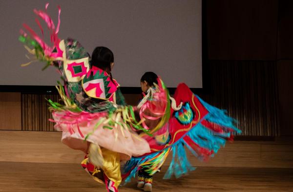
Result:
[[[0,92],[0,130],[21,130],[21,93]]]

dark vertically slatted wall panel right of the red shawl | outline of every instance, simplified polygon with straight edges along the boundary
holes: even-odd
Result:
[[[244,136],[277,136],[276,62],[209,61],[211,92],[204,100],[227,109]]]

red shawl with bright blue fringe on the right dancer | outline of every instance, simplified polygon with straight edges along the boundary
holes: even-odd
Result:
[[[127,161],[123,174],[126,182],[140,169],[153,175],[170,152],[172,160],[164,178],[173,174],[179,178],[195,169],[188,161],[186,149],[199,160],[208,160],[225,146],[226,140],[233,140],[234,132],[241,132],[225,110],[210,106],[183,83],[178,85],[171,99],[181,106],[170,108],[167,124],[156,132],[150,131],[152,136],[140,135],[148,142],[151,152]]]

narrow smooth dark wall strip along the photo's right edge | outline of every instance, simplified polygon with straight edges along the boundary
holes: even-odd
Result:
[[[293,135],[293,1],[279,0],[278,22],[278,91],[280,134]]]

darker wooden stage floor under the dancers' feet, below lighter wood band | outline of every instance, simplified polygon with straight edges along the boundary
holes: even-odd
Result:
[[[153,192],[293,192],[293,169],[198,167],[180,179],[154,176]],[[133,180],[119,192],[140,192]],[[0,192],[105,192],[79,164],[0,162]]]

